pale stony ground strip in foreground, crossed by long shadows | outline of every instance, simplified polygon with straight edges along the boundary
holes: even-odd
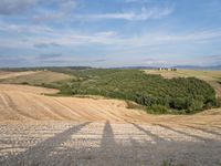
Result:
[[[221,165],[221,126],[0,124],[0,165]]]

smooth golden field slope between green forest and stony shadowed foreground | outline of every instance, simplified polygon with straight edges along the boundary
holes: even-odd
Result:
[[[27,85],[0,85],[0,122],[138,122],[200,123],[221,125],[221,110],[196,115],[149,115],[129,110],[124,101],[88,97],[55,97],[56,90]]]

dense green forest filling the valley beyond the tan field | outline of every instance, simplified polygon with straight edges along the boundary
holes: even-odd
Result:
[[[60,89],[62,95],[91,94],[134,101],[149,113],[196,113],[217,104],[214,90],[194,77],[168,80],[139,70],[120,69],[67,70],[65,73],[74,79],[48,85]]]

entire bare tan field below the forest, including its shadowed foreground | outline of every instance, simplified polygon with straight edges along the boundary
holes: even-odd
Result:
[[[148,115],[117,100],[0,85],[0,165],[220,165],[221,110]]]

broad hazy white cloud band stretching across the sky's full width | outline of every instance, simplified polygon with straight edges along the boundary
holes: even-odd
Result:
[[[44,43],[44,45],[86,45],[86,44],[103,44],[108,46],[124,49],[136,49],[140,46],[154,46],[164,44],[178,43],[198,43],[221,39],[221,30],[203,30],[188,33],[171,33],[168,32],[151,32],[143,33],[137,37],[123,37],[114,31],[102,31],[95,33],[82,33],[74,30],[57,30],[49,27],[39,25],[18,25],[0,22],[0,31],[10,34],[19,34],[13,38],[0,39],[0,46],[22,46],[29,48]],[[22,37],[22,38],[21,38]],[[41,45],[41,44],[40,44]],[[54,44],[53,44],[54,45]]]

